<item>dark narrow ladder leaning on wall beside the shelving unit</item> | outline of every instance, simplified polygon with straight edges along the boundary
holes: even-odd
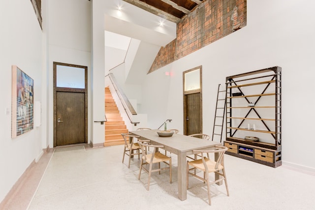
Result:
[[[217,104],[215,111],[215,119],[213,122],[213,131],[212,131],[212,140],[220,138],[222,141],[222,132],[223,132],[223,122],[225,114],[225,105],[226,105],[226,90],[220,90],[221,84],[218,85],[218,95],[217,95]],[[218,138],[217,138],[218,137]]]

